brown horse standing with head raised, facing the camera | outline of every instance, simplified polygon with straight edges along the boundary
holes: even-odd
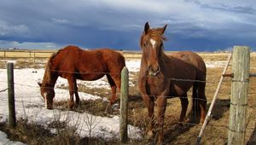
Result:
[[[167,25],[166,25],[167,26]],[[201,122],[206,117],[207,99],[206,65],[199,55],[193,52],[181,51],[166,55],[163,50],[163,36],[166,26],[150,29],[148,22],[144,26],[140,45],[143,50],[139,73],[139,89],[143,101],[148,107],[148,117],[151,119],[148,137],[153,137],[154,101],[157,106],[158,143],[163,142],[164,115],[166,98],[180,97],[182,111],[179,121],[183,122],[187,112],[187,92],[193,86],[192,112],[201,113]],[[195,114],[193,113],[193,114]],[[199,116],[199,115],[198,115]]]

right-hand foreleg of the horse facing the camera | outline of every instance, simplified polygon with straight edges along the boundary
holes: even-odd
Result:
[[[158,142],[162,144],[164,141],[164,119],[166,112],[166,97],[159,96],[156,100],[157,105],[157,124],[158,124]]]

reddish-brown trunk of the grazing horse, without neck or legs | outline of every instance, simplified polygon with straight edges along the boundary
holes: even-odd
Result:
[[[84,80],[101,78],[105,73],[120,73],[125,66],[124,56],[112,49],[86,50],[77,46],[60,49],[53,62],[62,78],[77,73],[77,78]]]

